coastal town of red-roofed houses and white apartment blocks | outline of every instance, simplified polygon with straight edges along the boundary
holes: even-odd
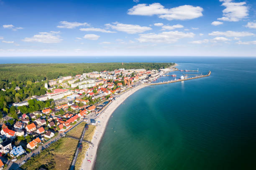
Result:
[[[122,102],[118,97],[125,92],[131,91],[131,95],[141,88],[140,84],[150,83],[172,70],[173,67],[159,70],[120,68],[42,80],[46,94],[12,103],[10,110],[15,111],[3,117],[0,169],[26,164],[30,153],[40,150],[40,146],[49,147],[48,141],[53,143],[63,138],[81,122],[102,126],[103,122],[98,119],[110,109],[110,103]],[[19,91],[20,87],[16,86],[15,90]]]

